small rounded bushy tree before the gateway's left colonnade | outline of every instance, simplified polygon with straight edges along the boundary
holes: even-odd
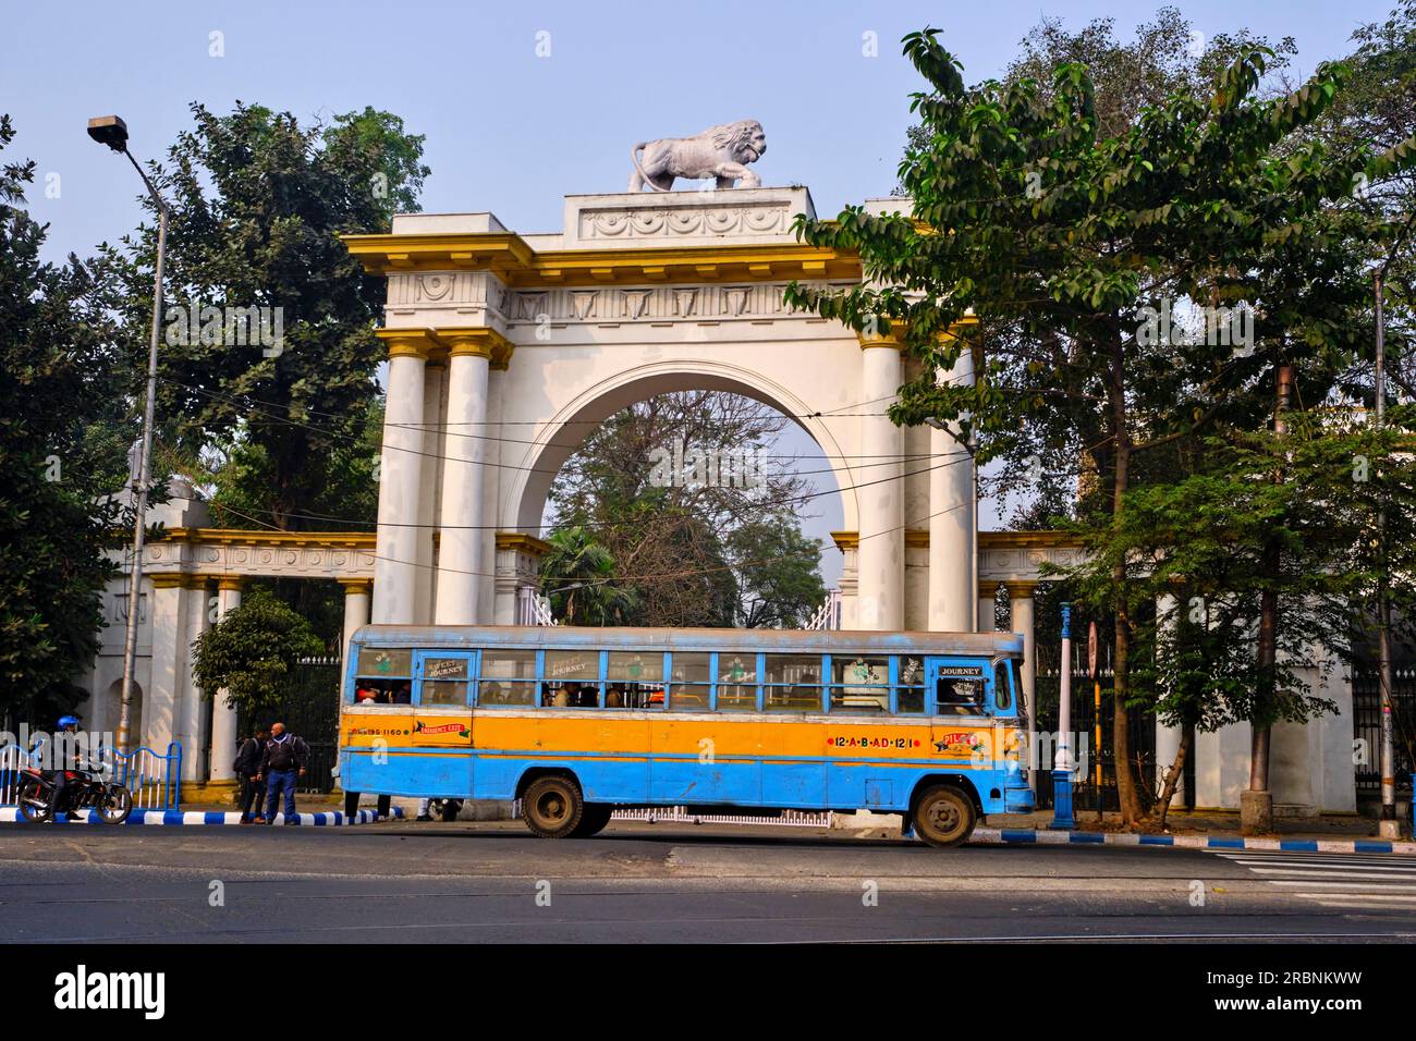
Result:
[[[227,702],[248,717],[275,707],[302,657],[324,652],[303,616],[273,593],[253,588],[193,643],[193,678],[208,695],[227,690]]]

